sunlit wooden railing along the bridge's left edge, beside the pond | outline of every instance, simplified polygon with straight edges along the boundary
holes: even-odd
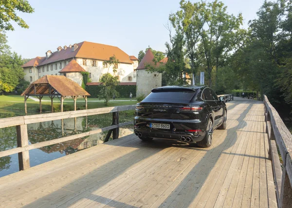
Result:
[[[119,123],[119,112],[125,111],[125,110],[133,110],[135,108],[136,108],[136,105],[124,105],[124,106],[104,107],[104,108],[95,108],[95,109],[88,109],[88,110],[59,112],[59,113],[47,113],[47,114],[39,114],[39,115],[31,115],[31,116],[18,116],[18,117],[0,119],[0,128],[16,126],[16,130],[17,130],[17,147],[10,150],[1,151],[0,157],[9,156],[9,155],[18,153],[19,170],[22,171],[30,167],[29,150],[90,136],[90,135],[101,133],[104,131],[109,131],[104,142],[109,140],[111,132],[113,134],[112,138],[117,139],[119,137],[119,127],[133,123],[133,121]],[[30,144],[30,145],[28,144],[27,124],[44,122],[44,121],[55,121],[55,120],[62,120],[62,119],[76,118],[76,117],[84,117],[84,116],[92,116],[92,115],[105,114],[105,113],[112,113],[111,126],[95,129],[95,130],[80,133],[80,134],[75,134],[68,137],[52,139],[49,141],[38,142],[35,144]]]

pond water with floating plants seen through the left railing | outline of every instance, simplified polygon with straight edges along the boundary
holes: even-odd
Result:
[[[132,121],[134,111],[123,111],[119,113],[119,121]],[[0,113],[0,118],[20,116],[14,113]],[[65,136],[91,131],[111,125],[112,114],[101,114],[88,117],[78,117],[32,123],[27,125],[29,144],[41,141],[57,139]],[[63,124],[63,125],[62,125]],[[62,127],[63,126],[63,127]],[[123,126],[120,128],[119,137],[127,136],[134,132],[133,126]],[[90,135],[80,139],[58,143],[39,149],[29,151],[30,166],[36,166],[50,160],[73,154],[77,151],[103,143],[108,132]],[[16,127],[0,129],[0,151],[17,147]],[[18,154],[0,157],[0,177],[19,171]]]

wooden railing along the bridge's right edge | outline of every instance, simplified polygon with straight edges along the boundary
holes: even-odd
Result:
[[[279,208],[292,207],[292,135],[277,111],[264,95],[266,132],[269,139],[269,158],[272,160],[274,183]],[[283,160],[283,169],[278,150]]]

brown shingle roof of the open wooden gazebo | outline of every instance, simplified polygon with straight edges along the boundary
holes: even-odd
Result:
[[[34,84],[48,84],[41,87],[36,87],[36,93],[34,92]],[[65,76],[57,75],[45,75],[37,81],[30,84],[29,87],[24,90],[21,94],[23,95],[34,95],[34,94],[51,94],[49,92],[49,87],[53,87],[59,94],[62,96],[90,96],[90,94],[80,87],[77,83],[73,82],[71,79],[68,79]],[[52,89],[53,90],[53,89]]]

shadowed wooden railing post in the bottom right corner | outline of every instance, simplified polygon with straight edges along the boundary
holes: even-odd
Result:
[[[282,170],[282,185],[279,208],[291,208],[292,207],[292,189],[288,174],[285,169],[285,164]]]

